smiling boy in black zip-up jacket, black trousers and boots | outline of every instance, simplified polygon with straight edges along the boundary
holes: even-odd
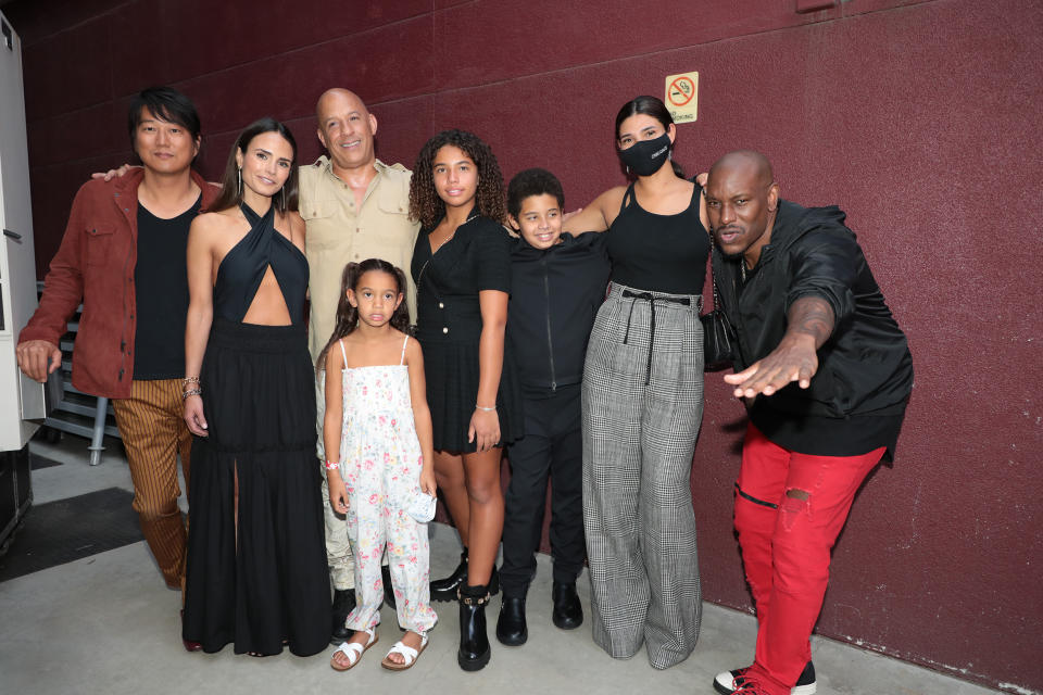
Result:
[[[562,232],[565,197],[545,169],[527,169],[507,187],[512,253],[507,339],[525,391],[525,437],[508,451],[511,485],[503,521],[503,604],[497,639],[525,644],[525,598],[536,574],[548,477],[552,479],[551,555],[554,624],[583,622],[576,578],[583,568],[580,381],[587,341],[608,282],[605,236]]]

